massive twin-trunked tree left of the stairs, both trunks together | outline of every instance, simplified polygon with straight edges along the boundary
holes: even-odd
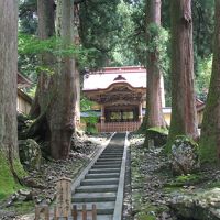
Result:
[[[54,34],[54,1],[38,0],[38,35],[45,40]],[[58,51],[68,51],[74,44],[74,1],[58,0],[56,7],[56,35],[61,41]],[[55,61],[57,65],[54,68]],[[58,57],[42,54],[42,65],[53,74],[42,72],[31,114],[36,118],[30,129],[50,142],[50,152],[55,160],[67,158],[70,139],[75,131],[75,59],[73,54],[61,53]]]

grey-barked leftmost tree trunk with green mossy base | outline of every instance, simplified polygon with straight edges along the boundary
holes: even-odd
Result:
[[[0,196],[14,185],[20,165],[16,131],[18,6],[0,1]],[[9,183],[11,179],[11,183]],[[7,188],[3,190],[4,184]],[[9,189],[13,190],[13,188]]]

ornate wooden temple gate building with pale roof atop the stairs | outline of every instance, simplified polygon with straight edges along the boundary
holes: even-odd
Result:
[[[92,112],[99,117],[99,132],[134,131],[141,125],[146,111],[146,69],[141,66],[106,67],[85,76],[82,91],[97,103]],[[165,108],[163,81],[161,92],[169,123],[170,108]]]

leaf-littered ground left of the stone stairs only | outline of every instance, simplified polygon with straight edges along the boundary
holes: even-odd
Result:
[[[31,188],[22,188],[0,200],[0,220],[33,220],[35,204],[52,204],[55,199],[55,180],[65,176],[75,179],[94,158],[110,134],[97,134],[75,139],[77,151],[67,161],[46,161],[38,170],[28,172],[25,182]]]

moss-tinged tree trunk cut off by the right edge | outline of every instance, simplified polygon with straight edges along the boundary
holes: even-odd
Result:
[[[220,162],[220,0],[216,0],[212,74],[201,127],[201,163]]]

